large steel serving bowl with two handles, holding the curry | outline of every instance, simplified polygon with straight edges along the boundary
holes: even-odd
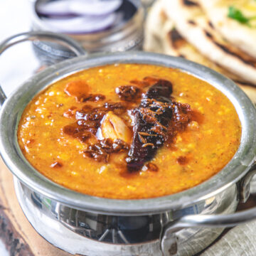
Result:
[[[80,55],[34,75],[7,99],[0,90],[0,153],[16,177],[21,208],[43,238],[63,250],[81,255],[183,255],[203,249],[200,243],[194,246],[197,240],[203,239],[209,244],[224,227],[256,218],[254,208],[234,213],[238,201],[247,200],[250,180],[256,170],[256,110],[233,81],[203,65],[155,53],[86,55],[78,43],[53,33],[14,36],[0,45],[0,54],[15,43],[36,38],[64,41]],[[28,102],[57,80],[80,70],[112,63],[178,68],[223,92],[233,102],[242,124],[240,147],[233,159],[222,171],[198,186],[170,196],[139,200],[87,196],[64,188],[36,171],[23,156],[16,136],[19,119]]]

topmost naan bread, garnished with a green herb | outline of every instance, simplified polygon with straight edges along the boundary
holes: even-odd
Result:
[[[199,0],[199,2],[215,29],[227,41],[256,58],[256,24],[250,27],[246,23],[228,17],[230,6],[241,11],[245,17],[256,16],[255,0]]]

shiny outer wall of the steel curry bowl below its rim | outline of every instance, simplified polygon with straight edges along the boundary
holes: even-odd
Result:
[[[17,180],[15,187],[21,208],[38,233],[63,250],[90,256],[161,256],[159,236],[167,223],[188,213],[233,213],[238,203],[236,186],[231,186],[215,197],[180,210],[143,216],[104,215],[64,206],[31,191]],[[178,249],[178,255],[197,244],[193,249],[196,253],[203,250],[206,243],[213,242],[222,230],[178,228],[164,243],[172,248],[169,252],[175,253]],[[207,242],[197,242],[199,240]]]

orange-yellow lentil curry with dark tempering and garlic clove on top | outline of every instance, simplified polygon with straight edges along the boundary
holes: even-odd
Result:
[[[115,64],[70,75],[34,97],[18,143],[55,183],[133,199],[206,181],[232,159],[240,134],[232,103],[207,82],[172,68]]]

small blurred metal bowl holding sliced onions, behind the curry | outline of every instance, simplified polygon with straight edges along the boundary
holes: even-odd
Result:
[[[33,31],[49,31],[49,27],[38,15],[38,6],[52,0],[35,0],[31,3],[31,28]],[[67,34],[85,48],[87,53],[141,50],[144,38],[143,24],[145,11],[140,0],[125,0],[120,7],[124,20],[103,31],[83,34]],[[52,32],[56,32],[53,29]],[[73,58],[73,51],[57,43],[36,41],[33,43],[38,58],[46,64],[58,63]]]

